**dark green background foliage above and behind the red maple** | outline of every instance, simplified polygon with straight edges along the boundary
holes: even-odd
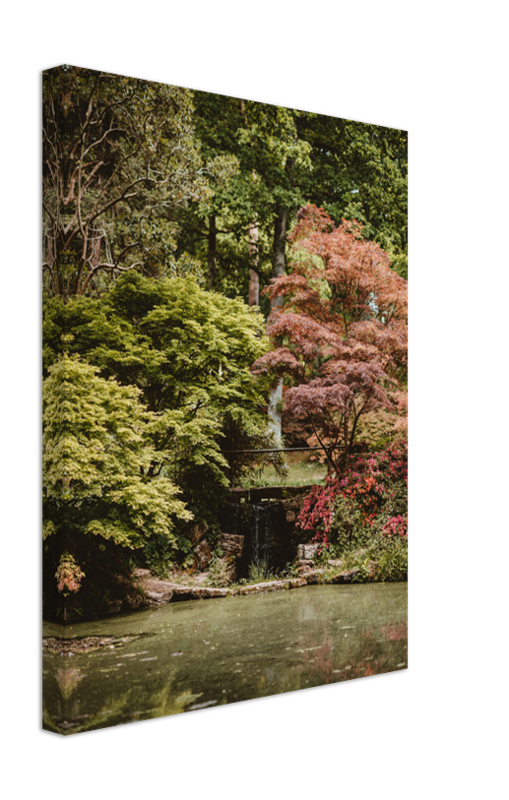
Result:
[[[211,196],[180,212],[179,252],[189,250],[204,265],[214,217],[216,289],[247,299],[248,226],[255,219],[260,290],[267,285],[275,216],[286,209],[290,229],[307,203],[336,223],[357,219],[408,279],[408,132],[201,90],[193,95],[202,155],[237,165],[223,180],[211,177]]]

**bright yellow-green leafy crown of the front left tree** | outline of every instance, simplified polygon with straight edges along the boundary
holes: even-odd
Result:
[[[64,353],[43,382],[43,539],[81,535],[130,549],[151,535],[176,545],[175,518],[192,514],[168,478],[149,475],[153,415],[141,392]]]

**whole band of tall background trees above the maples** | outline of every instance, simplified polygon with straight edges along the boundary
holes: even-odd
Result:
[[[42,146],[44,285],[64,299],[192,273],[267,316],[307,203],[408,279],[407,131],[64,65],[43,73]]]

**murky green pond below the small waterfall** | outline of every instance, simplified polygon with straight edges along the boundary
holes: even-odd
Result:
[[[65,655],[43,650],[43,728],[76,734],[408,669],[408,583],[170,603],[65,635]]]

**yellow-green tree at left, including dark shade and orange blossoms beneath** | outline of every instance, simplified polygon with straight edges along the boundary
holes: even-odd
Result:
[[[176,553],[175,523],[193,518],[171,480],[149,475],[140,391],[98,373],[64,353],[43,382],[43,612],[64,622],[122,601],[132,551],[162,540]]]

